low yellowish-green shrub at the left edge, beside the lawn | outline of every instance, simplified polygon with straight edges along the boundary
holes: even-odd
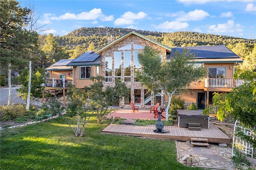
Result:
[[[22,117],[26,114],[26,109],[22,105],[2,105],[0,107],[0,120],[10,121],[17,117]]]

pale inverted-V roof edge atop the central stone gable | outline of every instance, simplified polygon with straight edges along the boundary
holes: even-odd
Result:
[[[105,49],[108,49],[108,48],[111,47],[112,45],[114,45],[114,44],[116,44],[116,43],[118,43],[118,42],[124,40],[125,38],[127,38],[127,37],[129,37],[129,36],[131,36],[131,35],[136,35],[136,36],[138,36],[138,37],[140,37],[140,38],[143,38],[143,39],[148,40],[148,41],[150,41],[150,42],[152,42],[152,43],[155,43],[155,44],[157,44],[157,45],[159,45],[159,46],[161,46],[161,47],[164,47],[164,48],[167,50],[168,53],[170,53],[171,50],[172,50],[171,47],[168,47],[168,46],[166,46],[166,45],[164,45],[164,44],[162,44],[162,43],[160,43],[160,42],[157,42],[157,41],[155,41],[155,40],[152,40],[152,39],[150,39],[150,38],[148,38],[148,37],[146,37],[146,36],[143,36],[143,35],[141,35],[141,34],[139,34],[139,33],[137,33],[137,32],[130,31],[130,32],[128,32],[127,34],[125,34],[124,36],[122,36],[122,37],[120,37],[120,38],[114,40],[113,42],[109,43],[108,45],[102,47],[101,49],[99,49],[98,51],[96,51],[96,53],[98,53],[98,54],[101,53],[101,52],[104,51]]]

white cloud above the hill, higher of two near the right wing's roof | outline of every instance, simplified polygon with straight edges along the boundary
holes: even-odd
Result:
[[[184,11],[178,12],[177,14],[180,14],[178,18],[176,18],[176,21],[198,21],[203,20],[207,16],[209,16],[208,12],[205,12],[204,10],[194,10],[190,11],[188,13],[185,13]]]

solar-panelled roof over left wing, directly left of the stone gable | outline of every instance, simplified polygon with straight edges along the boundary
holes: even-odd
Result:
[[[95,51],[86,51],[76,59],[66,64],[67,66],[80,66],[80,65],[102,65],[101,55]]]

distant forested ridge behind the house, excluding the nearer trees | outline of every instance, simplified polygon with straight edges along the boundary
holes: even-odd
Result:
[[[236,43],[256,43],[256,40],[247,40],[244,38],[214,35],[214,34],[201,34],[197,32],[150,32],[143,30],[133,30],[127,28],[80,28],[67,34],[66,36],[57,36],[56,41],[59,45],[73,49],[77,45],[88,47],[90,43],[94,43],[96,49],[100,49],[109,43],[110,37],[115,39],[127,34],[130,31],[135,31],[139,34],[147,36],[153,40],[161,42],[170,47],[175,46],[196,46],[196,45],[229,45]]]

